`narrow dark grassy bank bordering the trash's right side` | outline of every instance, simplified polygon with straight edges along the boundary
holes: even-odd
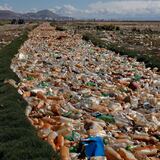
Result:
[[[125,47],[118,47],[118,44],[106,44],[103,40],[98,38],[96,35],[91,33],[86,33],[83,35],[83,39],[86,41],[91,41],[95,46],[107,48],[111,51],[119,53],[121,55],[128,55],[132,58],[136,58],[140,62],[144,62],[147,67],[157,67],[160,70],[160,60],[154,55],[150,54],[141,54],[136,50],[129,50]]]

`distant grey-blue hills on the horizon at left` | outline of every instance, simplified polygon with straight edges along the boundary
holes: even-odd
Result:
[[[26,20],[73,20],[71,17],[63,17],[50,10],[41,10],[36,13],[16,13],[9,10],[0,10],[0,19],[26,19]]]

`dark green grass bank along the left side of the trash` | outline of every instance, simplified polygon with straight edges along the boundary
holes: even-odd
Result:
[[[27,39],[27,33],[0,50],[0,159],[1,160],[58,160],[51,146],[37,136],[25,116],[27,102],[6,79],[19,78],[10,69],[11,60]]]

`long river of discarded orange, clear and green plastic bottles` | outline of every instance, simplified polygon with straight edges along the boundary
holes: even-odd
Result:
[[[44,23],[12,60],[38,136],[62,160],[102,137],[108,160],[160,159],[160,75],[133,58]],[[104,159],[99,157],[99,159]]]

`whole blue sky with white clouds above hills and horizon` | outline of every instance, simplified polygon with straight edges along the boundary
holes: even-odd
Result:
[[[75,18],[160,20],[160,0],[0,0],[0,10],[50,9]]]

